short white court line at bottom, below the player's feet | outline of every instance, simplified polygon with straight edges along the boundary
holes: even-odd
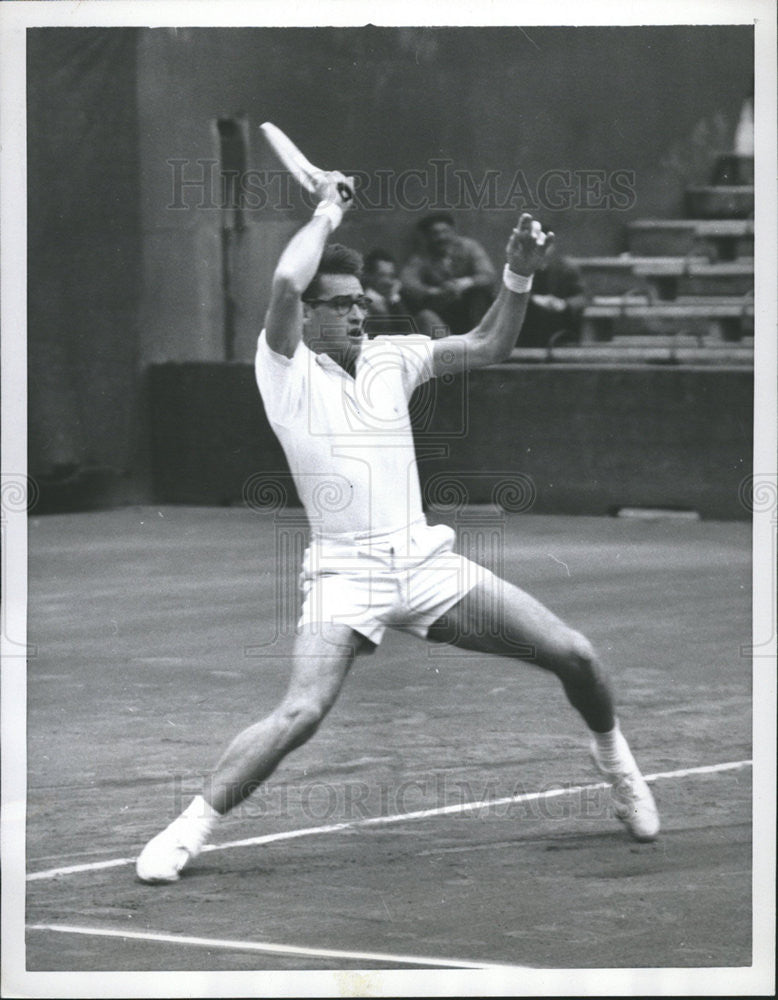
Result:
[[[472,962],[460,958],[429,958],[415,955],[392,955],[380,951],[335,951],[330,948],[304,948],[292,944],[269,944],[263,941],[231,941],[223,938],[189,937],[185,934],[162,934],[157,931],[110,930],[105,927],[78,927],[73,924],[28,924],[29,931],[56,931],[58,934],[84,934],[92,937],[118,937],[131,941],[155,941],[161,944],[192,945],[195,948],[221,948],[224,951],[264,952],[268,955],[295,955],[309,958],[352,959],[355,962],[388,962],[392,965],[434,965],[450,969],[529,969],[527,965],[499,962]]]

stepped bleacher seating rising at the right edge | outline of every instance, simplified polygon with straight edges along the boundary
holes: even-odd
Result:
[[[574,258],[590,296],[581,346],[513,360],[752,364],[753,177],[752,156],[722,155],[709,186],[687,189],[689,218],[636,220],[626,253]]]

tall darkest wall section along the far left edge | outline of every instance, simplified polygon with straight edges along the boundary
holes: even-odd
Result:
[[[27,33],[30,474],[139,465],[138,33]]]

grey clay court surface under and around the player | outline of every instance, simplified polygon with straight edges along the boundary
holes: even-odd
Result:
[[[656,775],[655,844],[609,815],[553,678],[391,633],[214,838],[264,843],[136,881],[127,859],[284,690],[292,611],[275,609],[297,567],[277,572],[279,523],[30,520],[29,970],[750,965],[745,522],[484,512],[502,570],[602,652]]]

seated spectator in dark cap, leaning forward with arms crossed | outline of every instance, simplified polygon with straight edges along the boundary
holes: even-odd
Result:
[[[416,230],[420,246],[402,284],[419,328],[433,337],[466,333],[494,299],[492,262],[479,243],[456,232],[447,212],[426,216]]]

